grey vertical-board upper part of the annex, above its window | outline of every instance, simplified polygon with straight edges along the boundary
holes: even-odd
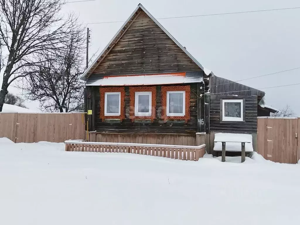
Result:
[[[210,94],[247,96],[257,95],[259,96],[259,99],[265,95],[265,92],[263,91],[218,76],[210,76],[209,86]]]

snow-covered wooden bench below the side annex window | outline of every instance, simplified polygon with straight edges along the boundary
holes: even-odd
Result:
[[[253,152],[251,134],[216,133],[214,134],[214,151],[222,151],[222,162],[225,162],[227,152],[241,152],[244,162],[246,152]]]

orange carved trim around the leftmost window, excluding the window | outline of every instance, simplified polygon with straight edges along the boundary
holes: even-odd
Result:
[[[125,88],[100,88],[100,119],[104,122],[105,119],[120,119],[122,122],[125,119]],[[120,116],[104,116],[104,101],[105,101],[105,92],[121,92],[121,109]]]

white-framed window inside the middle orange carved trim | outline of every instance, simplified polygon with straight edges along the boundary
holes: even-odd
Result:
[[[135,92],[134,115],[151,116],[152,114],[152,92]]]

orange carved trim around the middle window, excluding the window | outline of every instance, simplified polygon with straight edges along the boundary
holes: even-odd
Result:
[[[134,115],[134,107],[135,107],[135,92],[140,91],[147,91],[152,92],[152,113],[151,116],[135,116]],[[135,119],[147,119],[151,120],[153,122],[156,119],[156,87],[130,87],[129,88],[129,94],[130,94],[130,119],[132,122],[134,122]]]

